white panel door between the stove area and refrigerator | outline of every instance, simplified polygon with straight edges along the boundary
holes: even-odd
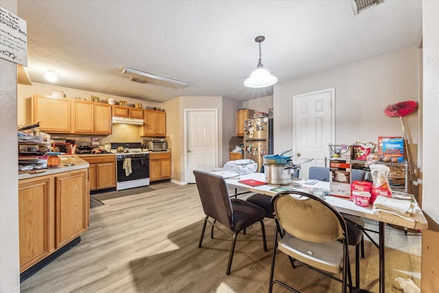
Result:
[[[211,172],[217,166],[217,110],[186,110],[186,182],[195,183],[193,170]]]

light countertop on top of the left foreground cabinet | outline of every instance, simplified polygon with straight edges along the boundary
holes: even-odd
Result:
[[[99,156],[99,155],[98,155]],[[85,169],[88,168],[88,163],[84,160],[82,160],[77,155],[62,155],[59,156],[61,159],[61,163],[58,167],[48,168],[48,169],[38,169],[38,170],[32,170],[32,171],[19,171],[19,180],[21,179],[27,179],[27,178],[34,178],[38,176],[46,176],[51,174],[57,174],[62,172],[69,172],[74,171],[78,169]],[[69,163],[73,163],[75,165],[67,165]]]

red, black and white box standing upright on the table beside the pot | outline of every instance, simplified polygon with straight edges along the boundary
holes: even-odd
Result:
[[[329,194],[351,198],[351,160],[329,160]]]

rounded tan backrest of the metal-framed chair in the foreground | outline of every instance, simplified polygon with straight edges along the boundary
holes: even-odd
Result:
[[[281,228],[299,239],[324,243],[346,237],[342,215],[317,196],[282,191],[272,199],[272,208]]]

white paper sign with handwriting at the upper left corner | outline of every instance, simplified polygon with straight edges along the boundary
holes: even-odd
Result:
[[[27,67],[26,21],[1,7],[0,58]]]

